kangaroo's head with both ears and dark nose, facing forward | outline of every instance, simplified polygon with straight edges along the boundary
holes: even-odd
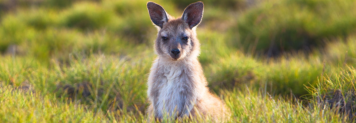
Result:
[[[195,2],[185,8],[182,17],[169,16],[162,6],[147,3],[148,13],[153,24],[157,25],[158,34],[155,41],[155,52],[173,61],[199,55],[199,40],[195,32],[203,17],[203,2]]]

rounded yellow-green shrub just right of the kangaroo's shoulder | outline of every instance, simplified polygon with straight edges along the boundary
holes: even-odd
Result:
[[[204,71],[212,89],[217,92],[219,88],[244,87],[255,82],[259,78],[255,75],[255,69],[261,65],[253,58],[231,55],[209,64]]]

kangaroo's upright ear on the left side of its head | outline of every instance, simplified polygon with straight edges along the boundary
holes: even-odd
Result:
[[[168,21],[167,13],[163,7],[155,2],[147,2],[147,9],[153,24],[162,28],[163,22]]]

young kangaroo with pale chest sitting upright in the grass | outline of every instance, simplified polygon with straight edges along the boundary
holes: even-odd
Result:
[[[228,110],[206,87],[198,61],[200,43],[195,30],[203,17],[203,2],[190,4],[177,19],[154,2],[148,2],[147,9],[158,29],[157,58],[147,82],[148,116],[160,120],[164,114],[175,118],[200,115],[221,122]]]

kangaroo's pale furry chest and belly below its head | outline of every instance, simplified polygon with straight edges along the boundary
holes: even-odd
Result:
[[[201,91],[205,90],[204,82],[194,68],[194,63],[167,65],[158,58],[155,60],[148,77],[147,92],[155,116],[161,117],[164,112],[176,116],[189,114],[197,99],[202,97],[204,92]]]

